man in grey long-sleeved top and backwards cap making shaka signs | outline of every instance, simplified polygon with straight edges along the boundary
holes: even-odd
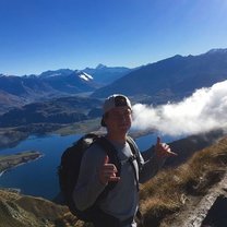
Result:
[[[106,215],[94,223],[95,227],[136,227],[135,215],[139,204],[138,181],[154,176],[164,164],[166,157],[176,155],[167,144],[157,139],[155,154],[144,162],[128,162],[132,151],[127,142],[128,131],[132,123],[132,107],[128,97],[116,94],[104,103],[101,126],[106,127],[106,139],[115,146],[121,163],[120,176],[116,165],[98,145],[92,145],[84,154],[77,184],[73,192],[76,206],[83,211],[95,203],[98,195],[110,182],[117,182],[104,200],[98,201],[100,211]],[[142,171],[140,166],[143,165]],[[133,167],[132,167],[133,166]],[[107,218],[106,218],[107,217]]]

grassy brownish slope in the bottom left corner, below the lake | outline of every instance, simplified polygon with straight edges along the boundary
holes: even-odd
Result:
[[[72,227],[80,225],[65,206],[41,198],[0,190],[0,227]]]

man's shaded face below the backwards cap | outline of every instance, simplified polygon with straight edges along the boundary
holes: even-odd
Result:
[[[132,123],[131,109],[129,107],[115,107],[109,110],[105,122],[108,131],[127,133]]]

